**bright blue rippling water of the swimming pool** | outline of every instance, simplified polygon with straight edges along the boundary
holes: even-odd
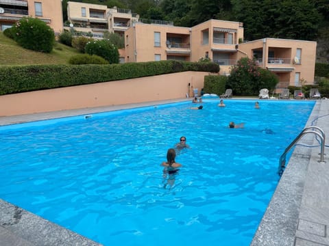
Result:
[[[315,105],[254,102],[0,127],[0,197],[106,246],[249,245],[276,189],[280,155]],[[245,128],[230,129],[230,121]],[[177,156],[183,167],[164,189],[160,163],[182,135],[191,149]]]

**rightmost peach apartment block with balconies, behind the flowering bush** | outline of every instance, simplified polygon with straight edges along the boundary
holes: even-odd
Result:
[[[317,42],[263,38],[239,44],[238,59],[256,59],[259,66],[274,72],[279,78],[278,87],[313,84]]]

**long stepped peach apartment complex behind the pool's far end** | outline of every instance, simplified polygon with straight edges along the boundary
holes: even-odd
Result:
[[[220,74],[241,57],[256,59],[276,73],[278,87],[314,82],[317,43],[264,38],[243,42],[243,23],[208,20],[191,28],[159,23],[134,23],[125,31],[125,61],[176,59],[198,61],[207,57],[220,66]]]

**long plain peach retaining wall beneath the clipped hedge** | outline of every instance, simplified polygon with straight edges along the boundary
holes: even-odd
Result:
[[[0,96],[0,116],[186,98],[192,86],[204,87],[208,74],[179,72]]]

